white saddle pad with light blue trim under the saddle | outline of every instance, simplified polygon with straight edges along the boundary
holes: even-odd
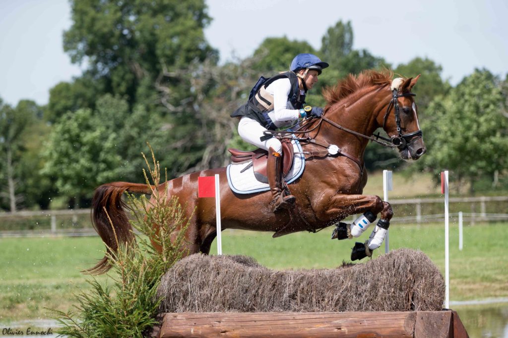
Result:
[[[302,146],[297,140],[291,140],[293,150],[295,152],[293,159],[293,166],[284,180],[290,184],[294,182],[303,173],[305,168],[305,157],[302,154]],[[252,161],[245,161],[241,163],[233,163],[228,166],[226,172],[228,174],[228,183],[231,190],[237,194],[252,194],[270,190],[268,183],[260,182],[254,176],[254,167],[250,167],[244,172],[241,172],[246,167],[250,166]]]

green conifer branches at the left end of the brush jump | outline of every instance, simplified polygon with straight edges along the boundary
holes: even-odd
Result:
[[[150,179],[146,172],[145,178],[152,200],[144,195],[139,199],[129,196],[133,227],[141,235],[136,235],[134,243],[117,243],[118,252],[106,253],[113,262],[111,287],[96,279],[89,280],[91,290],[77,295],[79,305],[75,311],[53,310],[55,319],[62,324],[57,329],[59,334],[79,338],[143,337],[158,323],[157,288],[162,275],[184,253],[188,220],[183,217],[178,199],[170,198],[164,187],[158,188],[160,165],[153,153],[152,160],[150,167],[145,158]]]

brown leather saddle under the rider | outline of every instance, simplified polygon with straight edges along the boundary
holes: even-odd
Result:
[[[282,152],[284,154],[282,163],[282,173],[287,175],[293,166],[293,144],[289,139],[282,139]],[[266,173],[266,161],[268,160],[268,152],[265,149],[258,148],[251,152],[244,152],[235,148],[229,148],[228,151],[231,153],[231,161],[234,163],[240,163],[252,160],[251,165],[245,167],[241,172],[244,172],[250,167],[254,167],[254,175],[256,179],[263,183],[268,183],[268,175]]]

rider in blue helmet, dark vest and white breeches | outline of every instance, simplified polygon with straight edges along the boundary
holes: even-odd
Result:
[[[293,195],[284,196],[282,189],[282,144],[264,131],[286,127],[299,118],[307,117],[303,109],[305,94],[317,82],[317,77],[328,63],[312,54],[298,54],[291,62],[290,71],[268,79],[251,98],[231,117],[241,117],[238,124],[240,137],[268,151],[267,175],[272,193],[272,211],[288,209],[295,203]],[[323,108],[312,107],[310,114],[321,116]]]

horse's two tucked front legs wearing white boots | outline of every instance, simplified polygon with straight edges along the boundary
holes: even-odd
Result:
[[[351,254],[351,260],[371,257],[372,251],[383,243],[390,227],[390,219],[393,216],[391,205],[372,195],[335,195],[330,202],[330,207],[325,211],[327,215],[338,214],[342,218],[363,212],[352,224],[339,222],[333,231],[332,239],[359,237],[380,213],[381,218],[377,221],[369,239],[365,243],[357,242]]]

